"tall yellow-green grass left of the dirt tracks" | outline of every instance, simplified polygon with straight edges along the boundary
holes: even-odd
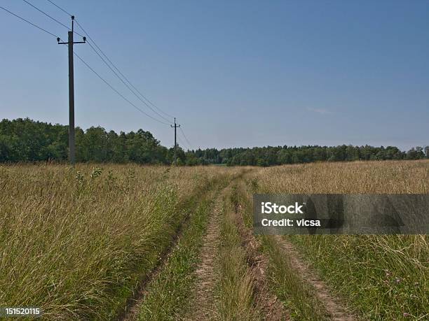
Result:
[[[0,303],[45,318],[114,318],[186,214],[233,169],[0,167]]]

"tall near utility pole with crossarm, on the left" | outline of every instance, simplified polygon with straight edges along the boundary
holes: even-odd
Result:
[[[71,31],[68,32],[69,38],[67,43],[60,43],[60,38],[57,38],[59,45],[69,46],[69,161],[74,165],[76,162],[76,148],[74,145],[74,66],[73,66],[73,45],[74,43],[86,43],[86,37],[83,41],[73,42],[74,32],[74,15],[71,16]]]

